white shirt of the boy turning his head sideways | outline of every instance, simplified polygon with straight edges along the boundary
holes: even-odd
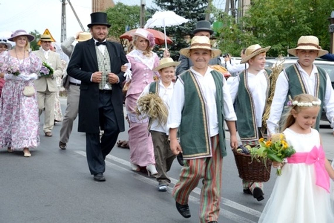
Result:
[[[251,91],[251,96],[254,102],[254,109],[255,109],[255,117],[256,117],[256,126],[262,127],[262,116],[265,110],[266,101],[267,101],[267,89],[268,89],[268,82],[265,75],[265,70],[259,71],[257,75],[246,72],[248,77],[248,88]],[[239,77],[233,79],[232,83],[230,84],[230,93],[231,98],[234,103],[236,96],[238,94],[239,88]]]

